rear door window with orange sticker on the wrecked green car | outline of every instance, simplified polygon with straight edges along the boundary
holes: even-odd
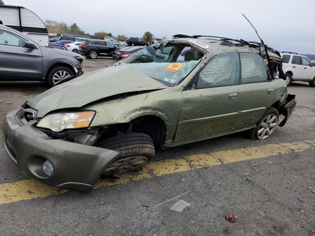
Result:
[[[266,81],[268,78],[265,62],[257,54],[240,53],[241,83],[256,83]]]

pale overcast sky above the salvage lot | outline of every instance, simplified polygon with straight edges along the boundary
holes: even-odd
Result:
[[[3,0],[24,6],[43,21],[77,23],[84,31],[128,37],[218,35],[264,42],[278,51],[315,54],[315,0]]]

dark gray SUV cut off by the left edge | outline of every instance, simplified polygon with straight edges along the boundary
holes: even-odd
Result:
[[[73,75],[81,75],[83,58],[48,48],[23,33],[0,26],[0,80],[47,81],[50,87]]]

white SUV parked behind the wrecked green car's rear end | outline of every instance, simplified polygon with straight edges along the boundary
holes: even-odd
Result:
[[[287,86],[292,81],[305,81],[309,82],[311,87],[315,87],[315,63],[297,53],[282,52],[281,57]]]

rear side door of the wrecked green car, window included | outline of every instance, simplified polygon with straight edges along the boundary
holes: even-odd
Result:
[[[235,120],[235,129],[251,128],[273,104],[278,86],[268,78],[267,66],[258,54],[240,53],[241,85],[239,102],[242,106]]]

